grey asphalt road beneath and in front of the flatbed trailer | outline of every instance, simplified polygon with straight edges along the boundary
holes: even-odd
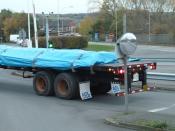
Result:
[[[104,118],[124,110],[124,97],[95,96],[88,101],[37,96],[32,79],[0,70],[0,131],[127,131],[105,125]],[[130,111],[175,115],[174,92],[129,96]]]

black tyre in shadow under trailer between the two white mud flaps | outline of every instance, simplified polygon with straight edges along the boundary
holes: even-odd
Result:
[[[93,95],[104,95],[111,89],[110,83],[98,83],[91,86],[91,93]]]

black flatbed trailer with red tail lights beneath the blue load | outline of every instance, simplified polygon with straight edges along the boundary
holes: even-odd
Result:
[[[3,69],[13,69],[33,73],[33,88],[38,95],[56,95],[62,99],[75,99],[81,95],[80,83],[90,83],[93,95],[105,94],[111,90],[112,83],[124,84],[124,65],[119,63],[96,64],[91,67],[58,70],[39,67],[14,67],[0,65]],[[147,69],[155,70],[156,63],[150,61],[134,61],[128,63],[128,92],[132,92],[131,84],[140,81],[140,89],[147,87]],[[120,91],[119,91],[120,92]]]

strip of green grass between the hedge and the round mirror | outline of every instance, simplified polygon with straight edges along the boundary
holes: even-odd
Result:
[[[91,45],[89,44],[85,50],[89,51],[113,51],[115,49],[112,45]]]

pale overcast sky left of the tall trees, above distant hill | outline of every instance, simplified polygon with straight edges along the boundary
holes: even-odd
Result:
[[[57,13],[58,11],[60,14],[86,13],[88,12],[89,8],[88,4],[89,0],[33,0],[33,1],[35,3],[35,10],[37,13],[41,12]],[[1,0],[0,10],[10,9],[14,12],[21,12],[21,11],[27,12],[28,5],[30,12],[32,12],[32,0]]]

